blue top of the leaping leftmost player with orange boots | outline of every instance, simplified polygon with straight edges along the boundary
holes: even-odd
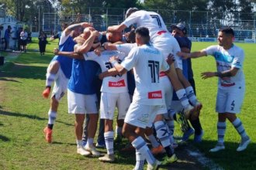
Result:
[[[75,42],[73,41],[71,36],[68,36],[66,41],[59,46],[60,51],[73,52],[74,51]],[[52,61],[57,60],[60,63],[61,70],[64,75],[69,79],[71,77],[71,68],[72,68],[72,60],[67,56],[54,56]]]

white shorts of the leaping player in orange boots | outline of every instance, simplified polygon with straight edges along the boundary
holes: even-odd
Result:
[[[51,93],[51,97],[54,97],[57,101],[60,101],[67,91],[67,83],[68,79],[60,67],[55,76],[54,89]]]

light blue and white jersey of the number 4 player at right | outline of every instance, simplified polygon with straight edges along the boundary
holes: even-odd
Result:
[[[225,89],[230,87],[244,87],[244,73],[243,73],[243,63],[244,63],[244,50],[240,49],[238,46],[232,46],[230,49],[223,49],[222,46],[209,46],[204,49],[207,55],[214,56],[216,59],[216,66],[218,72],[223,72],[230,70],[232,67],[236,67],[236,76],[219,77],[219,88]]]

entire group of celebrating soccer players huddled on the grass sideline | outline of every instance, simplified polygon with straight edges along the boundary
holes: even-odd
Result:
[[[136,24],[137,29],[126,33],[123,39],[121,32],[133,24]],[[46,89],[43,91],[43,97],[49,97],[50,87],[55,82],[48,112],[49,121],[43,130],[46,140],[49,143],[52,141],[58,103],[67,91],[68,113],[75,115],[77,152],[80,155],[96,155],[102,162],[115,161],[112,124],[116,107],[118,109],[116,136],[120,138],[123,135],[136,149],[137,162],[134,169],[143,169],[144,160],[147,160],[147,169],[156,169],[161,162],[157,161],[153,154],[159,152],[166,152],[168,156],[166,161],[169,163],[177,160],[174,152],[177,144],[173,138],[173,131],[174,120],[177,119],[176,114],[179,112],[185,117],[184,121],[188,119],[195,129],[186,124],[182,139],[187,140],[195,133],[194,141],[202,141],[203,131],[199,121],[202,104],[195,97],[191,61],[180,56],[184,58],[207,54],[215,56],[217,47],[202,50],[200,53],[190,53],[191,42],[185,37],[185,26],[178,24],[172,26],[172,30],[171,35],[161,15],[137,8],[129,8],[125,21],[119,26],[109,26],[107,33],[96,31],[87,22],[65,25],[59,49],[54,49],[56,56],[48,66]],[[227,35],[229,34],[230,32],[227,32]],[[226,53],[225,55],[219,53],[218,57],[221,56],[227,58]],[[240,73],[242,59],[235,57],[226,60],[230,63],[230,67],[235,67]],[[233,60],[237,63],[232,63]],[[225,64],[227,65],[222,63]],[[213,76],[219,76],[223,81],[227,80],[227,76],[236,76],[237,72],[233,73],[234,71],[231,74],[226,73],[229,68],[226,65],[222,67],[226,70],[220,70]],[[203,73],[203,77],[211,77],[212,74],[209,74]],[[97,97],[99,82],[95,82],[95,76],[102,79],[100,104]],[[229,83],[230,81],[228,79]],[[172,95],[173,92],[175,97]],[[176,101],[172,101],[175,98]],[[217,110],[219,140],[216,147],[210,151],[224,149],[223,138],[221,141],[220,136],[223,137],[223,124],[226,118],[232,120],[242,137],[240,149],[237,148],[237,151],[247,148],[250,142],[240,120],[235,114],[230,116],[234,111],[240,112],[242,100],[237,101],[238,99],[233,98],[232,100],[235,107],[232,108],[233,112],[230,111],[232,109],[225,110],[223,99],[219,101],[223,105]],[[107,154],[102,157],[93,145],[99,118],[98,110],[100,118],[105,120],[103,128],[100,129],[104,131]],[[84,137],[86,142],[83,143],[85,114],[88,117],[87,129],[85,129],[87,133]],[[219,127],[222,134],[219,134]],[[99,131],[100,133],[102,134],[102,131]],[[152,144],[152,152],[145,142],[145,136]]]

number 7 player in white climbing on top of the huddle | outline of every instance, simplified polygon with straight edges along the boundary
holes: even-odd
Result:
[[[196,107],[196,109],[199,110],[202,108],[202,104],[196,100],[189,81],[187,81],[182,74],[182,60],[178,59],[178,56],[176,56],[176,53],[180,51],[178,42],[174,37],[171,36],[171,33],[168,32],[161,15],[157,14],[156,12],[147,12],[144,10],[139,11],[137,8],[129,8],[126,12],[125,21],[119,26],[109,26],[108,30],[110,32],[120,32],[134,23],[138,27],[145,26],[149,29],[150,41],[153,42],[153,45],[157,49],[161,50],[161,53],[164,53],[164,56],[168,56],[170,53],[175,55],[175,66],[171,66],[171,84],[174,87],[179,100],[181,100],[182,106],[185,107],[186,117],[189,118],[193,109],[189,104],[189,100]],[[175,70],[175,68],[177,68],[177,70]],[[161,80],[164,81],[164,79],[168,79],[166,76],[164,76],[164,74],[161,75]],[[168,83],[165,83],[165,81],[164,84],[168,85]],[[187,96],[189,97],[189,100]],[[171,104],[171,97],[168,99],[168,101],[170,101]],[[159,117],[159,120],[161,119],[162,117]]]

